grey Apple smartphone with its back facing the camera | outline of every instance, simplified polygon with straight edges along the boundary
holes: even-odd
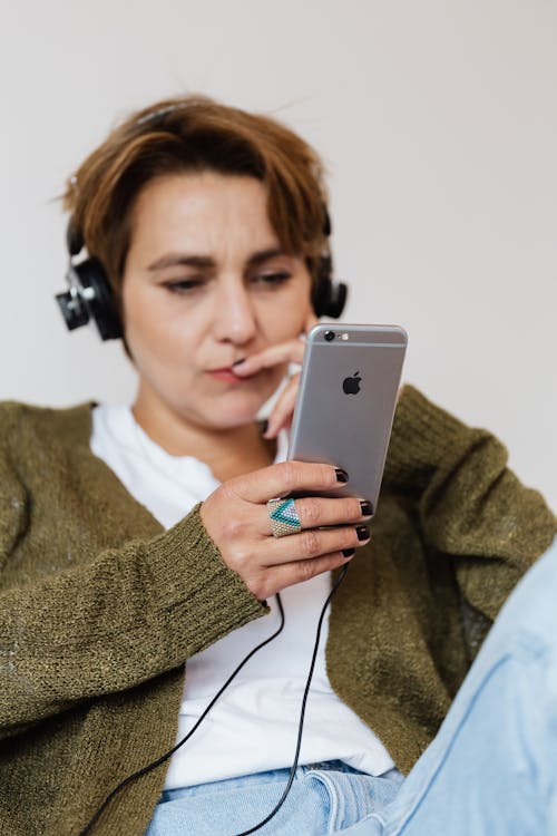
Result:
[[[358,496],[377,508],[407,342],[399,325],[310,331],[287,458],[342,467],[349,480],[293,496]]]

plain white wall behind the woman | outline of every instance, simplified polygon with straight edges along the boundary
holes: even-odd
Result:
[[[405,378],[556,506],[556,43],[555,0],[4,3],[0,397],[131,397],[119,346],[52,301],[52,198],[117,116],[198,90],[313,142],[345,320],[405,325]]]

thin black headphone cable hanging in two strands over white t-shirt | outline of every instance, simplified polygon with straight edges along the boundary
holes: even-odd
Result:
[[[291,789],[292,784],[294,781],[294,775],[295,775],[295,771],[297,769],[297,760],[300,758],[300,749],[301,749],[301,746],[302,746],[302,732],[303,732],[304,718],[305,718],[305,706],[306,706],[306,702],[307,702],[307,696],[310,693],[310,686],[311,686],[311,681],[312,681],[312,678],[313,678],[313,671],[314,671],[314,668],[315,668],[315,660],[317,658],[319,641],[320,641],[320,638],[321,638],[321,628],[322,628],[322,624],[323,624],[323,618],[325,615],[326,607],[329,606],[329,603],[330,603],[332,596],[334,595],[334,593],[336,592],[336,590],[341,585],[342,581],[344,580],[344,576],[345,576],[345,574],[348,572],[349,565],[350,564],[345,564],[342,567],[342,570],[341,570],[341,572],[339,574],[339,577],[334,582],[334,584],[333,584],[333,586],[331,589],[331,592],[329,593],[329,595],[328,595],[328,597],[325,600],[325,603],[323,604],[323,609],[321,610],[321,615],[319,618],[317,630],[316,630],[316,633],[315,633],[315,644],[314,644],[314,648],[313,648],[313,655],[312,655],[312,661],[311,661],[311,664],[310,664],[310,672],[307,674],[307,680],[306,680],[305,689],[304,689],[304,696],[302,698],[302,707],[301,707],[301,710],[300,710],[300,722],[299,722],[299,727],[297,727],[296,751],[295,751],[295,755],[294,755],[294,762],[292,764],[292,767],[291,767],[291,770],[290,770],[290,776],[289,776],[289,781],[286,784],[286,787],[284,788],[284,791],[283,791],[283,794],[282,794],[278,803],[271,810],[271,813],[268,814],[268,816],[266,816],[263,819],[263,822],[260,822],[257,825],[255,825],[254,827],[250,828],[250,830],[244,830],[243,833],[237,834],[237,836],[247,836],[248,834],[255,833],[255,830],[258,830],[261,827],[263,827],[264,825],[266,825],[267,822],[270,822],[273,818],[273,816],[276,815],[276,813],[282,807],[282,805],[284,804],[284,801],[286,799],[286,796],[290,793],[290,789]],[[275,632],[272,635],[270,635],[268,639],[265,639],[265,641],[261,642],[261,644],[257,644],[257,647],[255,647],[252,651],[250,651],[250,653],[237,665],[237,668],[233,671],[233,673],[231,673],[231,675],[228,677],[228,679],[226,680],[226,682],[224,683],[224,686],[213,697],[213,699],[208,703],[207,708],[202,713],[202,716],[199,717],[199,719],[197,720],[197,722],[194,725],[194,727],[187,732],[187,735],[185,737],[182,738],[182,740],[178,743],[176,743],[175,746],[173,746],[172,749],[169,749],[167,752],[165,752],[164,755],[162,755],[159,758],[157,758],[156,760],[152,761],[147,766],[141,767],[141,769],[138,769],[136,772],[131,772],[131,775],[128,775],[127,778],[124,778],[124,780],[120,781],[113,789],[113,791],[105,798],[105,800],[102,801],[102,804],[100,805],[100,807],[97,809],[97,811],[95,813],[95,815],[92,816],[92,818],[90,818],[89,822],[84,827],[84,829],[79,832],[79,836],[87,836],[87,834],[90,833],[91,827],[98,822],[98,819],[100,818],[100,816],[102,815],[102,813],[105,811],[105,809],[108,807],[108,805],[110,804],[110,801],[113,800],[113,798],[116,795],[118,795],[118,793],[120,793],[124,789],[124,787],[127,787],[127,785],[131,784],[131,781],[136,780],[137,778],[140,778],[143,775],[146,775],[147,772],[150,772],[153,769],[156,769],[157,767],[159,767],[163,764],[165,764],[168,760],[168,758],[170,758],[174,755],[175,751],[177,751],[182,746],[184,746],[184,743],[187,740],[189,740],[189,738],[192,737],[192,735],[194,733],[194,731],[199,727],[201,722],[208,715],[208,712],[211,711],[211,709],[213,708],[213,706],[215,704],[215,702],[217,701],[217,699],[228,688],[228,686],[231,684],[232,680],[236,677],[237,673],[240,673],[240,671],[246,664],[246,662],[248,662],[250,659],[258,650],[261,650],[262,648],[264,648],[265,644],[268,644],[270,642],[273,641],[273,639],[276,639],[276,636],[282,632],[282,630],[284,628],[284,609],[283,609],[283,605],[282,605],[282,600],[281,600],[280,593],[276,593],[275,597],[276,597],[276,603],[278,604],[278,611],[281,613],[281,623],[278,625],[278,629],[275,630]]]

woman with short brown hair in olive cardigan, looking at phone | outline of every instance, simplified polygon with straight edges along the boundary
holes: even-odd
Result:
[[[433,738],[553,515],[496,439],[408,387],[372,526],[367,497],[309,497],[301,531],[273,536],[270,499],[350,478],[282,461],[295,379],[264,434],[256,420],[331,295],[320,162],[285,127],[158,103],[85,161],[66,207],[70,251],[95,259],[74,270],[107,282],[138,389],[131,410],[1,409],[0,830],[84,832],[276,630],[281,592],[283,633],[88,832],[256,825],[285,785],[314,628],[349,562],[301,767],[261,833],[350,826]]]

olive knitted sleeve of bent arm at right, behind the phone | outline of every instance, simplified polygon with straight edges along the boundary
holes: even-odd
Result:
[[[427,547],[453,558],[465,600],[492,620],[550,545],[556,519],[507,468],[507,450],[407,386],[383,484],[410,499]]]

